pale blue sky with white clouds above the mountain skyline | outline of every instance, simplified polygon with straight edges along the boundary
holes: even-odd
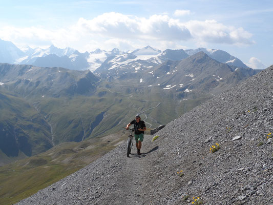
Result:
[[[273,64],[273,1],[1,1],[0,38],[16,46],[214,48]]]

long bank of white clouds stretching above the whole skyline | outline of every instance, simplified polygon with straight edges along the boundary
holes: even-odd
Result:
[[[177,10],[176,13],[187,13]],[[216,20],[180,19],[169,15],[152,15],[149,18],[121,13],[103,13],[93,19],[79,18],[77,23],[64,28],[43,27],[0,28],[0,38],[10,40],[17,46],[55,45],[60,48],[72,47],[79,51],[96,48],[129,49],[151,45],[163,48],[181,48],[184,42],[198,46],[207,43],[249,45],[253,44],[252,34],[243,28],[218,23]]]

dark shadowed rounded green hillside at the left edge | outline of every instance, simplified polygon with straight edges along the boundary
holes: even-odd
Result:
[[[2,90],[0,113],[0,150],[6,156],[31,156],[52,147],[50,126],[26,100]]]

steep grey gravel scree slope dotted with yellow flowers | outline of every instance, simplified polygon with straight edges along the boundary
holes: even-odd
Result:
[[[273,204],[273,66],[18,204]],[[219,144],[214,153],[209,148]],[[183,176],[177,172],[183,170]]]

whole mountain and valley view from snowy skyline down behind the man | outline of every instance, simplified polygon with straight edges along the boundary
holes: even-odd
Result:
[[[2,52],[12,51],[7,63],[32,65],[0,64],[1,165],[62,142],[115,133],[136,113],[149,128],[167,124],[259,72],[214,49],[21,52],[4,43]],[[93,73],[85,70],[90,66]]]

